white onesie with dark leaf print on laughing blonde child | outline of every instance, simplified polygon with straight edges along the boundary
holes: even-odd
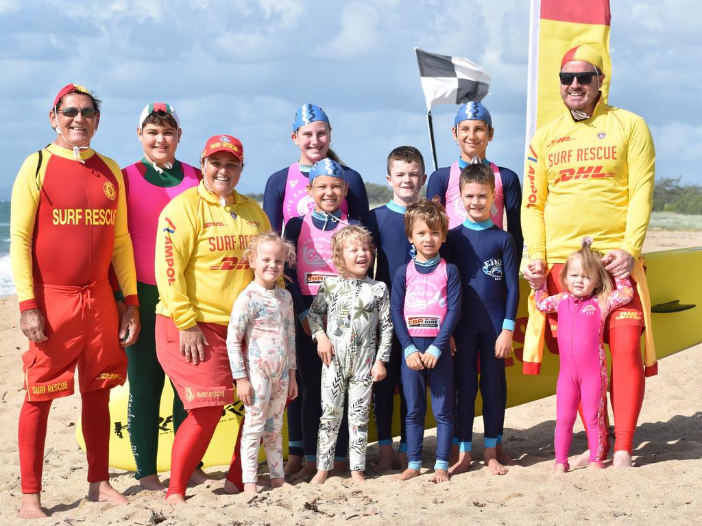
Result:
[[[326,316],[326,331],[323,318]],[[366,468],[368,417],[375,360],[390,360],[392,322],[385,283],[341,276],[324,278],[307,314],[312,338],[326,333],[334,349],[322,365],[322,419],[317,440],[317,469],[329,471],[348,392],[349,459],[352,471]],[[380,344],[376,351],[376,337]]]

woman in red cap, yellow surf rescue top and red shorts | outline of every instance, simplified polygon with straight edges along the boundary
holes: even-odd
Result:
[[[234,299],[253,279],[246,244],[270,231],[258,203],[234,189],[244,169],[244,147],[236,137],[210,137],[200,162],[202,181],[166,205],[156,241],[157,356],[187,410],[171,452],[171,504],[185,502],[187,480],[223,407],[234,401],[227,325]],[[243,488],[239,438],[240,431],[225,482],[230,493]]]

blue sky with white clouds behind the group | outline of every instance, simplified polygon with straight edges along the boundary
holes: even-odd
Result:
[[[492,78],[483,103],[495,138],[489,159],[521,177],[527,102],[526,0],[0,0],[0,199],[25,157],[55,139],[48,111],[81,83],[103,101],[92,146],[120,166],[142,156],[135,129],[149,102],[173,104],[178,159],[197,164],[211,135],[244,144],[237,189],[298,159],[296,109],[314,102],[332,146],[369,182],[411,144],[432,171],[425,102],[413,51],[469,58]],[[694,0],[611,2],[609,102],[646,119],[656,177],[702,184],[700,8]],[[439,166],[458,155],[456,107],[436,106]]]

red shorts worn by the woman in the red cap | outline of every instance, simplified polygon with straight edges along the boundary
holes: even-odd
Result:
[[[227,354],[227,325],[201,323],[208,345],[197,365],[180,353],[180,332],[171,318],[156,316],[156,354],[176,386],[185,409],[234,403],[234,380]]]

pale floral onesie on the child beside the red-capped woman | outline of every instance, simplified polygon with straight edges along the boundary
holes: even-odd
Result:
[[[244,406],[241,433],[241,473],[244,483],[256,483],[258,447],[263,449],[270,478],[283,475],[283,411],[289,370],[295,362],[293,300],[284,288],[268,290],[255,282],[239,294],[229,320],[227,352],[234,379],[249,378],[253,400]],[[242,340],[246,340],[246,356]]]

